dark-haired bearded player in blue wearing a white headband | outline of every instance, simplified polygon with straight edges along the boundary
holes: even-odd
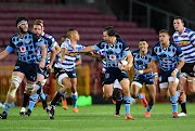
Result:
[[[28,31],[28,19],[25,16],[16,18],[18,34],[11,38],[10,45],[0,53],[0,60],[8,56],[14,49],[17,52],[17,62],[12,74],[10,90],[5,100],[5,108],[0,114],[1,119],[6,119],[10,106],[15,97],[15,92],[26,77],[26,93],[31,94],[36,90],[36,80],[38,68],[44,68],[47,49],[43,41],[34,32]],[[41,60],[37,56],[37,50],[40,48]]]

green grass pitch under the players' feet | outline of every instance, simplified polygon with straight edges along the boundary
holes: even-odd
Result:
[[[131,105],[135,120],[125,120],[125,105],[121,117],[115,118],[115,105],[79,106],[78,114],[56,106],[54,120],[50,120],[42,107],[35,107],[31,116],[20,116],[21,107],[12,107],[6,120],[0,119],[0,131],[194,131],[195,104],[187,103],[187,116],[172,118],[171,104],[155,104],[151,118],[145,118],[141,104]],[[0,108],[2,112],[3,108]],[[179,106],[180,110],[180,106]]]

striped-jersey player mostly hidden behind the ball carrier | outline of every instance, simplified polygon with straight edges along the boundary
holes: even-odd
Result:
[[[99,54],[104,55],[104,50],[98,51]],[[95,79],[98,78],[98,66],[99,66],[100,58],[94,58],[93,62],[93,78],[92,81],[93,83],[95,82]],[[102,60],[103,66],[102,66],[102,73],[101,73],[101,82],[102,82],[102,88],[104,91],[104,78],[105,78],[105,71],[106,71],[106,62],[103,58]],[[114,86],[113,86],[113,103],[116,104],[116,110],[114,117],[120,117],[120,106],[121,106],[121,86],[118,81],[118,79],[115,80]]]

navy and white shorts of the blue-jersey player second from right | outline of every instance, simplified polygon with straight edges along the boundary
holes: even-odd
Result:
[[[160,70],[160,73],[159,73],[159,88],[168,88],[168,82],[169,81],[179,82],[179,79],[180,79],[179,73],[177,74],[177,79],[176,80],[173,80],[173,77],[171,76],[171,73],[173,70],[174,69],[171,69],[171,70],[168,70],[168,71]]]

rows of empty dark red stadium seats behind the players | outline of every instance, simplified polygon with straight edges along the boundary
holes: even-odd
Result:
[[[102,40],[102,31],[106,26],[114,26],[128,43],[130,50],[138,49],[138,42],[141,38],[146,39],[151,48],[158,40],[155,29],[140,28],[136,23],[132,22],[120,22],[115,15],[103,15],[96,9],[0,6],[1,50],[9,44],[10,38],[17,31],[15,18],[18,15],[26,15],[29,18],[29,29],[31,29],[35,19],[43,19],[46,32],[52,35],[57,42],[68,28],[77,28],[80,34],[79,43],[92,45]],[[84,64],[91,62],[92,58],[83,56],[82,60]],[[6,64],[1,63],[1,65],[14,64],[9,61],[13,60],[8,58],[4,61]]]

